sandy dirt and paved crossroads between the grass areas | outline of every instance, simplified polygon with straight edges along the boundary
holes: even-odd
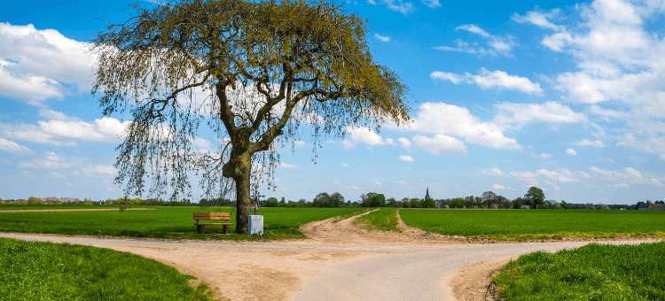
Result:
[[[489,273],[509,259],[585,244],[467,243],[403,223],[403,233],[368,231],[355,218],[310,223],[301,228],[308,240],[278,243],[0,236],[129,251],[192,274],[231,300],[485,300]]]

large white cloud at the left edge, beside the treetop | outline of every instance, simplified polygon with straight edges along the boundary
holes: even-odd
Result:
[[[0,22],[0,95],[39,105],[34,101],[88,91],[96,59],[89,49],[54,29]]]

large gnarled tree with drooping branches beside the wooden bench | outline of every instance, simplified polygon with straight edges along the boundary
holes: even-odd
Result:
[[[105,114],[131,112],[115,164],[126,194],[141,195],[149,182],[153,196],[182,197],[196,173],[206,194],[235,191],[236,231],[246,233],[251,185],[271,185],[278,146],[299,138],[302,125],[316,150],[319,135],[409,120],[408,90],[372,58],[366,20],[339,6],[184,0],[134,8],[94,41],[93,95]],[[197,147],[204,129],[212,132],[201,125],[215,131],[216,147]]]

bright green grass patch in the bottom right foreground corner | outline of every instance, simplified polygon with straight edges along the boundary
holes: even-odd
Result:
[[[518,300],[665,300],[665,242],[590,243],[557,253],[537,251],[504,267],[494,282]]]

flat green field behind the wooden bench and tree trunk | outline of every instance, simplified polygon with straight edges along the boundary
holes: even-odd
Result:
[[[0,232],[61,235],[112,235],[192,239],[297,239],[299,228],[310,221],[357,212],[362,208],[260,208],[264,234],[203,235],[196,233],[193,212],[218,211],[215,207],[151,207],[156,210],[101,212],[0,212]],[[231,208],[222,208],[231,212]],[[235,212],[231,214],[235,222]],[[231,232],[235,226],[231,227]]]

